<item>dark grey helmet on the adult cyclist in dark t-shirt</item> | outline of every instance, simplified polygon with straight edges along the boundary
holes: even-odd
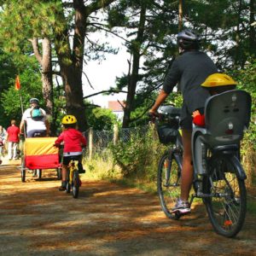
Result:
[[[200,38],[189,29],[177,34],[177,44],[182,49],[199,49],[199,43]]]

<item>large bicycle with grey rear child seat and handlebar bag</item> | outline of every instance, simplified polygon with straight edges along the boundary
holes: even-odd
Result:
[[[160,111],[168,120],[164,128],[169,125],[170,130],[164,131],[157,119],[160,142],[172,145],[160,159],[157,188],[166,217],[177,220],[182,214],[172,212],[172,207],[180,195],[182,176],[183,146],[177,125],[180,110],[169,106],[160,107]],[[212,96],[205,107],[206,128],[195,126],[192,132],[194,193],[189,195],[189,205],[195,198],[202,199],[213,229],[226,237],[237,235],[246,216],[246,174],[240,163],[239,143],[249,126],[250,112],[251,96],[245,91]]]

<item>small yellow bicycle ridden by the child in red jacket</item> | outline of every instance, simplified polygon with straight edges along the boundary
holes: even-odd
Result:
[[[79,173],[84,173],[84,170],[79,168],[79,160],[71,160],[67,166],[67,189],[66,192],[72,191],[73,198],[79,197],[79,188],[82,184]]]

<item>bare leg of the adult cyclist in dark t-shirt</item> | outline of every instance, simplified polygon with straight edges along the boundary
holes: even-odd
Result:
[[[193,182],[192,150],[191,150],[191,131],[182,130],[183,132],[183,170],[181,182],[180,199],[187,201],[189,191]]]

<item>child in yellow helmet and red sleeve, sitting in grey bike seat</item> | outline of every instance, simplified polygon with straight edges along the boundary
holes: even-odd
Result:
[[[230,76],[224,73],[213,73],[208,76],[201,86],[209,90],[211,96],[217,95],[224,91],[236,89],[236,81],[230,78]],[[197,126],[205,126],[205,114],[204,109],[196,109],[192,113],[193,123]]]

